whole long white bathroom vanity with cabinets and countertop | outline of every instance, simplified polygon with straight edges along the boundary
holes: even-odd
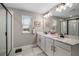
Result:
[[[48,56],[79,56],[78,38],[64,37],[58,35],[37,33],[37,45]]]

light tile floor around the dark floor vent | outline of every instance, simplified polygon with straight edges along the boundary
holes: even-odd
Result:
[[[23,46],[22,52],[15,53],[13,49],[10,56],[46,56],[46,54],[38,47],[33,45]]]

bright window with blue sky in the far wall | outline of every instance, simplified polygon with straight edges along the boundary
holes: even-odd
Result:
[[[31,25],[31,17],[30,16],[22,16],[22,28],[23,33],[30,33],[30,25]]]

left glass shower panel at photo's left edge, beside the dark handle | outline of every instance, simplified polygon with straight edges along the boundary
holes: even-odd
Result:
[[[6,10],[0,4],[0,56],[6,55]]]

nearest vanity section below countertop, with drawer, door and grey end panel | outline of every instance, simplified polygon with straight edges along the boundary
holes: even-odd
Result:
[[[54,56],[79,56],[79,44],[69,45],[63,42],[54,41]]]

